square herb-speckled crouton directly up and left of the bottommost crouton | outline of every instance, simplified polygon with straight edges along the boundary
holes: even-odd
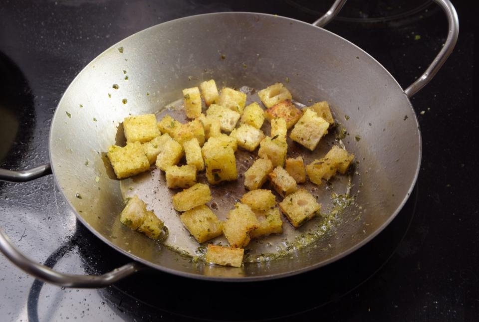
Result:
[[[221,222],[207,205],[185,211],[180,216],[180,220],[199,243],[204,243],[223,233]]]

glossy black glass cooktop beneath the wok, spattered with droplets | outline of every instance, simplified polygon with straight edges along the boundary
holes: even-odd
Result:
[[[3,0],[0,167],[48,161],[56,104],[75,75],[117,41],[171,19],[257,11],[312,22],[332,1]],[[478,19],[454,1],[460,36],[412,99],[423,138],[418,183],[394,221],[357,252],[277,281],[212,283],[144,271],[101,290],[64,289],[0,256],[1,321],[478,321]],[[327,29],[357,44],[407,87],[447,33],[426,0],[349,0]],[[28,256],[73,274],[129,262],[80,224],[51,176],[0,182],[0,227]]]

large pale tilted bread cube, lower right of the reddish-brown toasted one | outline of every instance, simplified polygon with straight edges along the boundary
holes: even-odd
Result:
[[[319,140],[328,133],[329,123],[316,112],[306,110],[304,115],[294,126],[289,137],[303,147],[313,151],[319,143]]]

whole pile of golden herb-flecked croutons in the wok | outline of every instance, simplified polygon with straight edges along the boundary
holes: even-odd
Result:
[[[230,244],[209,244],[206,261],[210,263],[241,266],[243,247],[251,238],[282,232],[281,213],[296,228],[319,214],[321,204],[298,183],[304,183],[307,174],[311,182],[321,184],[322,179],[329,180],[337,172],[344,174],[354,159],[337,146],[306,166],[301,156],[287,159],[287,131],[292,128],[291,140],[314,151],[334,125],[329,104],[323,101],[300,110],[281,83],[260,90],[258,95],[265,110],[256,102],[245,106],[245,93],[228,87],[219,93],[214,80],[205,81],[199,88],[183,90],[190,122],[183,124],[169,115],[160,122],[153,114],[128,117],[123,122],[126,146],[111,146],[108,151],[118,178],[147,171],[155,164],[165,171],[169,188],[184,189],[173,196],[173,205],[182,212],[180,219],[191,235],[203,243],[224,234]],[[202,113],[202,97],[206,114]],[[271,123],[269,136],[260,130],[264,119]],[[212,199],[210,185],[237,180],[237,149],[253,152],[258,147],[258,158],[244,172],[244,186],[249,192],[221,222],[206,205]],[[186,164],[178,166],[183,157]],[[210,185],[197,182],[200,171],[206,171]],[[261,189],[266,180],[282,197],[279,208],[271,190]],[[163,228],[163,222],[146,211],[136,196],[129,200],[120,221],[154,239]]]

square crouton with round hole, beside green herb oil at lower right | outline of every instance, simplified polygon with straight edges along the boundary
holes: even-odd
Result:
[[[299,189],[286,196],[279,203],[279,207],[289,222],[298,228],[314,217],[316,212],[321,209],[321,204],[317,203],[314,196],[306,189]]]

